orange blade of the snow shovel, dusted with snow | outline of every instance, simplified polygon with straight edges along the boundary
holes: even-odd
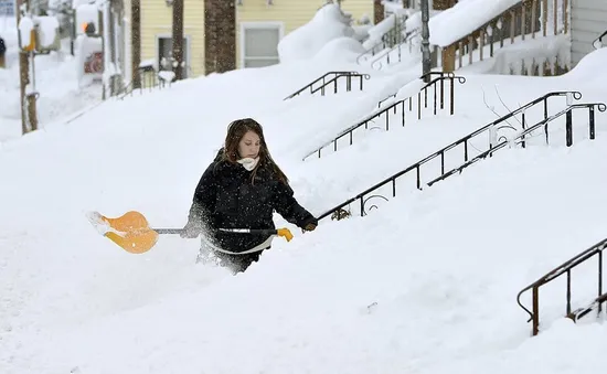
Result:
[[[94,216],[100,223],[110,227],[103,233],[104,236],[128,253],[146,253],[158,241],[158,233],[150,228],[148,220],[139,212],[127,212],[116,218],[106,217],[98,213]]]

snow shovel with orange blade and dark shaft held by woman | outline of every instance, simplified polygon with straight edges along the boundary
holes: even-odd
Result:
[[[90,212],[87,214],[87,218],[102,235],[131,254],[142,254],[150,250],[158,241],[158,235],[183,233],[183,228],[151,228],[143,214],[135,211],[127,212],[116,218],[106,217],[98,212]],[[221,228],[221,231],[237,234],[277,235],[286,238],[287,242],[292,239],[292,234],[288,228]]]

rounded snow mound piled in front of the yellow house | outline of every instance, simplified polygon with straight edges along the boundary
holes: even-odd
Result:
[[[351,19],[338,6],[327,4],[315,18],[301,28],[287,34],[278,43],[281,63],[313,57],[330,41],[339,38],[354,38]]]

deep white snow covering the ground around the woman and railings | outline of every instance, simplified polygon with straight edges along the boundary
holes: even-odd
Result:
[[[351,62],[334,62],[340,47]],[[560,138],[550,147],[502,150],[433,188],[400,191],[365,217],[326,220],[307,234],[292,229],[292,242],[275,241],[237,276],[194,265],[196,239],[161,237],[149,253],[129,255],[89,225],[92,210],[109,216],[137,210],[153,226],[181,227],[200,174],[235,118],[263,124],[296,197],[321,214],[551,90],[579,90],[581,101],[607,97],[607,50],[562,77],[467,74],[456,86],[454,117],[370,130],[351,147],[302,161],[321,138],[330,140],[394,93],[394,79],[405,79],[373,73],[363,93],[283,100],[324,72],[361,70],[348,45],[332,49],[305,62],[111,100],[68,125],[6,141],[0,373],[604,367],[605,327],[563,318],[564,279],[541,290],[536,338],[515,297],[606,236],[607,114],[597,114],[594,141],[586,115],[575,115],[572,148]],[[555,137],[558,126],[551,127]],[[596,261],[574,271],[574,307],[596,297]]]

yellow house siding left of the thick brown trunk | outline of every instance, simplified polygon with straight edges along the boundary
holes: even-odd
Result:
[[[183,36],[190,44],[188,76],[195,77],[204,74],[204,0],[185,0],[183,8]],[[141,61],[158,58],[157,38],[171,36],[172,12],[164,1],[141,1]]]

